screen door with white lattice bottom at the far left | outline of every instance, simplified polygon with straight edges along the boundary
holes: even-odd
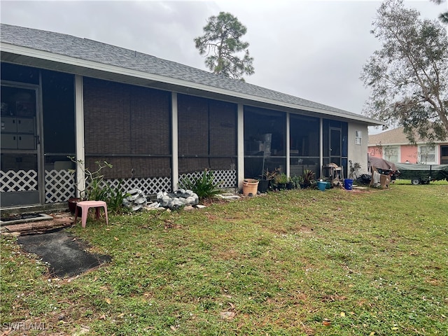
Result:
[[[1,207],[41,204],[38,86],[1,85]]]

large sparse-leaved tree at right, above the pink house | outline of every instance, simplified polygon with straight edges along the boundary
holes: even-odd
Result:
[[[402,0],[377,10],[372,34],[382,43],[363,66],[372,92],[364,113],[404,127],[409,141],[448,134],[448,38],[437,20],[421,20]]]

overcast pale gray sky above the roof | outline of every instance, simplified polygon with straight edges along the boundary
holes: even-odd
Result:
[[[361,113],[359,79],[379,43],[370,34],[381,1],[4,1],[1,22],[118,45],[207,70],[193,38],[230,12],[247,27],[255,74],[246,82]],[[424,18],[447,8],[405,1]],[[379,132],[372,130],[373,132]]]

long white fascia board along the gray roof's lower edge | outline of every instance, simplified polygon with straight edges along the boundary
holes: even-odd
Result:
[[[92,61],[88,61],[85,59],[79,59],[76,57],[58,55],[58,54],[55,54],[52,52],[35,50],[32,48],[22,47],[22,46],[18,46],[18,45],[12,45],[10,43],[2,42],[2,43],[0,43],[0,48],[3,52],[10,52],[10,53],[17,54],[17,55],[34,57],[37,59],[45,59],[45,60],[48,60],[51,62],[59,62],[59,63],[63,63],[63,64],[70,64],[73,66],[80,66],[80,67],[87,68],[87,69],[95,69],[95,70],[106,71],[106,72],[110,72],[110,73],[118,73],[118,74],[125,75],[125,76],[144,78],[147,80],[154,80],[154,81],[158,81],[158,82],[162,82],[162,83],[178,85],[181,87],[190,87],[190,88],[197,89],[197,90],[204,90],[206,92],[224,94],[224,95],[228,95],[231,97],[247,99],[247,100],[251,100],[254,102],[262,102],[262,103],[266,103],[266,104],[272,104],[274,106],[281,106],[281,107],[286,107],[286,108],[294,109],[294,110],[304,110],[304,111],[310,111],[310,112],[315,112],[315,113],[322,113],[325,116],[340,117],[340,118],[345,118],[348,120],[362,121],[364,123],[368,123],[369,125],[384,125],[384,123],[382,123],[380,121],[372,120],[370,118],[364,118],[363,116],[359,116],[359,117],[349,116],[349,115],[346,115],[345,113],[339,113],[337,111],[327,111],[327,110],[316,109],[316,108],[299,105],[299,104],[290,104],[290,103],[286,103],[286,102],[279,102],[279,101],[276,101],[273,99],[267,99],[265,97],[254,96],[251,94],[244,94],[244,93],[236,92],[236,91],[232,91],[232,90],[225,90],[225,89],[221,89],[219,87],[213,87],[213,86],[209,86],[209,85],[193,83],[193,82],[190,82],[187,80],[180,80],[180,79],[176,79],[176,78],[155,75],[153,73],[147,73],[144,71],[125,69],[120,66],[102,64],[99,62],[92,62]]]

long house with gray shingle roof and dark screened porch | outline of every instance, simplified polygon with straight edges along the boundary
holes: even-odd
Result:
[[[225,188],[276,167],[319,176],[335,162],[346,174],[349,160],[367,169],[370,125],[381,123],[134,50],[1,25],[1,207],[75,196],[70,155],[91,168],[110,162],[113,186],[146,195],[204,169]]]

